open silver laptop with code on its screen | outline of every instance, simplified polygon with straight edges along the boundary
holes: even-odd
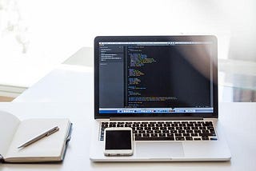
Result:
[[[94,39],[91,161],[228,161],[211,35]],[[132,156],[106,157],[104,129],[131,127]]]

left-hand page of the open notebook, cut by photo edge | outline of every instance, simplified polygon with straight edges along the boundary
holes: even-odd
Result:
[[[0,111],[0,154],[3,157],[6,156],[19,123],[18,118],[11,113]]]

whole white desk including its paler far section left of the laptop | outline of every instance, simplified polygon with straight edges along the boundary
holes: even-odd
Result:
[[[0,165],[6,170],[255,170],[256,104],[221,103],[219,119],[232,153],[227,162],[94,163],[89,159],[90,123],[93,121],[92,70],[54,70],[11,103],[0,109],[21,120],[30,117],[70,117],[72,139],[62,164]],[[71,89],[71,90],[70,90]],[[246,121],[248,121],[247,124]]]

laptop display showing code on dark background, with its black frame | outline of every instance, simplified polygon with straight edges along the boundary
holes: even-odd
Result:
[[[214,113],[214,38],[103,39],[95,42],[99,115]]]

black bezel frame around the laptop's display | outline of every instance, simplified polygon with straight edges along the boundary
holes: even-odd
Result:
[[[210,41],[213,42],[213,113],[99,113],[99,42],[168,42],[168,41]],[[182,36],[98,36],[94,38],[94,118],[110,117],[215,117],[218,118],[218,41],[214,35]]]

